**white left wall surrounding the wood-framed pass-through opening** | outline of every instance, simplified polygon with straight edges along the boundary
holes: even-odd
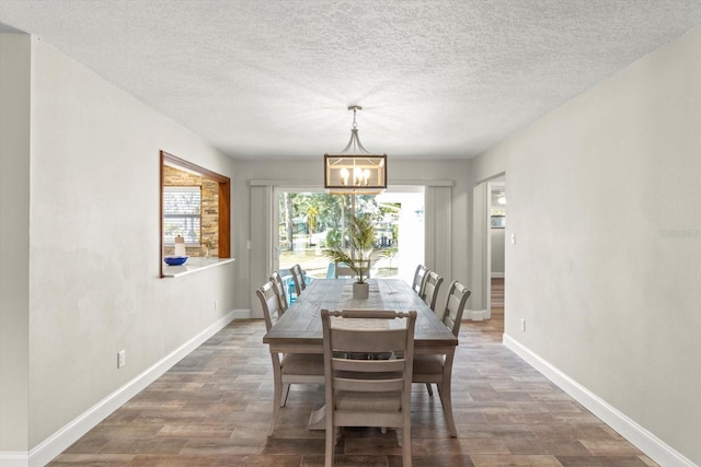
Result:
[[[159,278],[159,150],[233,178],[232,160],[53,46],[31,49],[30,450],[227,315],[235,281],[231,265]],[[27,190],[2,182],[3,199]]]

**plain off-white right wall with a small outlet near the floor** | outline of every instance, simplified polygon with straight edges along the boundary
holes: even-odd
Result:
[[[506,338],[694,464],[699,129],[701,26],[473,165],[505,161]]]

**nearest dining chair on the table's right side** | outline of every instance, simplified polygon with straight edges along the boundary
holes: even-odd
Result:
[[[460,332],[462,313],[471,293],[472,292],[470,290],[458,281],[453,281],[450,284],[450,291],[448,292],[448,300],[446,301],[446,308],[443,315],[443,323],[456,337],[458,337],[458,334]],[[450,435],[456,437],[458,433],[452,418],[452,401],[450,400],[451,390],[450,387],[446,387],[448,382],[450,382],[452,373],[452,360],[453,355],[450,354],[416,355],[414,358],[412,381],[414,383],[425,383],[426,389],[432,396],[434,393],[430,385],[432,383],[436,384],[438,387],[438,395],[440,396],[440,402],[443,404],[443,411],[446,415],[446,421],[448,422]]]

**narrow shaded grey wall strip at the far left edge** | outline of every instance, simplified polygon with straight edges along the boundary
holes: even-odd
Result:
[[[0,34],[0,452],[28,448],[31,38]]]

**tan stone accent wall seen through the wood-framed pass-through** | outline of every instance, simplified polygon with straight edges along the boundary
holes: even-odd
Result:
[[[164,186],[202,187],[202,247],[186,246],[187,256],[205,256],[210,243],[209,256],[219,254],[219,184],[210,178],[181,171],[169,165],[163,166]],[[165,256],[173,254],[172,246],[165,246]]]

